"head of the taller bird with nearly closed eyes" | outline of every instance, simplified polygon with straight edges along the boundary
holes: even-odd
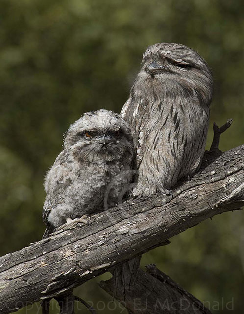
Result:
[[[136,79],[137,87],[144,86],[144,90],[145,83],[168,92],[181,88],[188,94],[197,94],[206,103],[212,99],[210,68],[197,52],[181,44],[160,43],[147,48]]]

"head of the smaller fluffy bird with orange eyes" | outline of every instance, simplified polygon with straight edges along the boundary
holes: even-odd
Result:
[[[81,160],[107,162],[131,155],[133,140],[127,122],[118,114],[101,109],[85,113],[70,126],[64,148]]]

